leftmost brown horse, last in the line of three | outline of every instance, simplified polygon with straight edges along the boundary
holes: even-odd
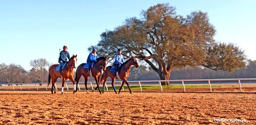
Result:
[[[72,56],[70,58],[70,60],[68,61],[68,63],[66,63],[65,65],[63,65],[63,69],[62,69],[62,88],[61,88],[61,94],[63,94],[63,90],[64,90],[64,82],[66,79],[70,79],[73,84],[74,84],[74,92],[75,93],[75,89],[76,89],[76,84],[75,84],[75,80],[74,80],[74,68],[76,68],[76,64],[77,64],[77,55],[76,56]],[[55,88],[55,82],[57,81],[57,79],[59,78],[59,70],[56,71],[56,67],[59,64],[54,64],[49,68],[49,78],[48,78],[48,86],[50,84],[50,80],[52,78],[52,94],[53,94],[53,87],[54,87],[54,93],[56,94],[56,88]]]

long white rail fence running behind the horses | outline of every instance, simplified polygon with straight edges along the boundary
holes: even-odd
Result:
[[[185,88],[185,84],[184,82],[191,82],[191,81],[207,81],[208,82],[208,85],[209,85],[209,90],[210,92],[212,92],[212,86],[211,86],[211,81],[237,81],[237,83],[234,83],[234,84],[238,84],[239,87],[240,87],[240,92],[242,92],[242,86],[241,86],[241,81],[245,81],[245,80],[252,80],[252,81],[256,81],[256,78],[225,78],[225,79],[180,79],[180,80],[139,80],[139,81],[128,81],[128,83],[138,83],[138,85],[140,86],[140,91],[142,92],[142,87],[141,87],[141,83],[159,83],[159,88],[161,89],[161,92],[163,92],[163,89],[162,89],[162,85],[161,85],[161,82],[165,82],[165,81],[169,81],[170,84],[172,84],[172,82],[181,82],[181,84],[183,85],[183,89],[184,89],[184,92],[186,92],[186,88]],[[122,83],[122,81],[116,81],[115,83],[117,84],[118,82]],[[81,82],[80,82],[81,83]],[[106,81],[106,83],[111,83],[111,81]],[[29,86],[31,85],[35,85],[37,90],[38,89],[38,85],[39,84],[42,84],[45,86],[45,89],[47,90],[47,84],[48,83],[0,83],[0,90],[1,89],[4,89],[6,88],[7,89],[7,86],[12,86],[13,90],[15,90],[14,88],[14,85],[18,85],[20,87],[20,90],[22,90],[22,86],[27,86],[27,89],[29,90]],[[62,84],[60,82],[57,82],[56,84]],[[56,86],[55,84],[55,86]],[[65,82],[65,85],[67,87],[67,90],[68,90],[68,85],[67,84],[73,84],[72,82]],[[91,87],[92,87],[92,90],[93,90],[93,84],[96,84],[96,82],[94,81],[88,81],[87,84],[90,84]],[[51,83],[50,83],[51,85]],[[106,90],[108,91],[108,87],[107,87],[107,84],[105,84],[106,86]],[[80,91],[80,87],[78,85],[78,88],[79,88],[79,91]],[[57,86],[56,86],[56,89],[57,89]],[[123,89],[123,88],[122,88]],[[124,89],[123,89],[124,91]]]

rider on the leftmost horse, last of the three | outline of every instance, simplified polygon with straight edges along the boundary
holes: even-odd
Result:
[[[67,58],[68,58],[68,60],[70,60],[70,55],[69,55],[67,49],[68,49],[67,46],[63,46],[63,50],[60,51],[60,53],[59,53],[59,64],[60,64],[59,75],[61,75],[61,69],[62,69],[63,64],[68,62]]]

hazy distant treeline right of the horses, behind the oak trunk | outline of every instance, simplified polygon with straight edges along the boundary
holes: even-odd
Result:
[[[249,60],[246,67],[236,69],[234,72],[212,70],[203,67],[187,67],[175,69],[171,72],[170,79],[213,79],[213,78],[256,78],[256,61]],[[140,66],[133,68],[129,80],[155,80],[158,74],[152,69]]]

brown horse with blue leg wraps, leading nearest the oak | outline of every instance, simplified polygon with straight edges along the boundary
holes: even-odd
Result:
[[[136,68],[138,68],[138,63],[137,63],[137,60],[136,60],[137,57],[132,57],[130,58],[129,60],[127,60],[126,62],[124,62],[123,64],[121,64],[121,67],[120,69],[118,70],[118,75],[116,76],[116,78],[118,79],[121,79],[122,80],[122,85],[119,89],[119,92],[118,94],[120,93],[121,91],[121,88],[123,87],[123,84],[124,82],[126,83],[126,85],[128,86],[129,88],[129,91],[130,93],[132,94],[132,91],[130,89],[130,86],[127,82],[127,78],[129,77],[129,74],[130,74],[130,70],[132,68],[132,65],[134,65]],[[115,91],[115,93],[117,94],[117,90],[114,86],[114,82],[115,82],[115,77],[114,77],[114,72],[111,70],[112,66],[108,66],[106,68],[106,70],[103,72],[103,74],[100,76],[100,81],[101,83],[103,84],[103,90],[102,90],[102,93],[104,93],[104,86],[105,86],[105,82],[107,80],[108,77],[110,77],[112,79],[112,82],[111,82],[111,85]]]

